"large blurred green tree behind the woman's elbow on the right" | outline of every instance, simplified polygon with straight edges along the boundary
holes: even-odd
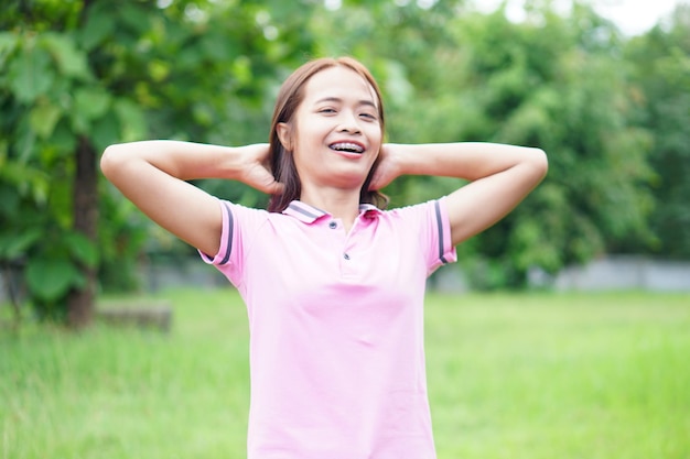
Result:
[[[533,7],[521,24],[496,13],[457,30],[470,47],[468,105],[483,108],[460,135],[540,146],[550,159],[547,181],[481,236],[483,253],[505,256],[519,282],[530,265],[556,273],[619,240],[644,243],[649,134],[629,121],[617,31],[576,3],[568,18]]]

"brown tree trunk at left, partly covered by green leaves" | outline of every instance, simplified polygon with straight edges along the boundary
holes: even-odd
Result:
[[[74,230],[96,243],[98,232],[98,173],[96,150],[82,136],[75,152],[76,174],[73,187]],[[82,266],[86,283],[73,289],[67,298],[67,324],[72,328],[88,326],[94,317],[96,300],[96,267]]]

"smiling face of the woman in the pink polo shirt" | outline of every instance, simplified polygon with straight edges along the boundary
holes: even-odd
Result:
[[[281,142],[294,154],[302,188],[362,188],[381,146],[378,100],[369,83],[347,67],[312,76]]]

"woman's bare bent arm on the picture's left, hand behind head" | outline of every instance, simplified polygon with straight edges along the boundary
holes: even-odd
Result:
[[[152,140],[108,146],[100,168],[154,222],[213,255],[223,230],[220,207],[215,197],[185,181],[235,179],[280,193],[267,161],[268,144],[230,147]]]

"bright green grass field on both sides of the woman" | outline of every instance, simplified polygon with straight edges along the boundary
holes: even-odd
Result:
[[[244,306],[161,297],[169,335],[2,331],[0,458],[244,458]],[[690,458],[690,295],[429,295],[427,360],[440,459]]]

